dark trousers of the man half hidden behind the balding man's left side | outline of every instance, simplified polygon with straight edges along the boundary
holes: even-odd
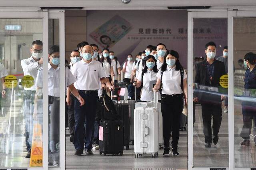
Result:
[[[74,111],[75,111],[76,97],[74,97],[74,95],[70,94],[70,98],[71,98],[71,105],[68,106],[68,127],[69,127],[70,135],[74,135],[74,128],[75,128]]]

